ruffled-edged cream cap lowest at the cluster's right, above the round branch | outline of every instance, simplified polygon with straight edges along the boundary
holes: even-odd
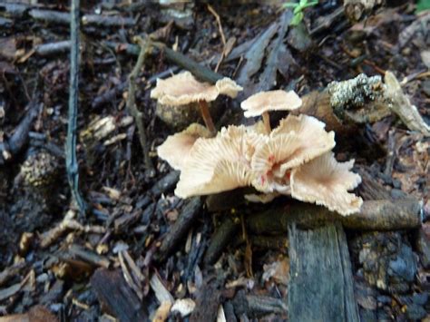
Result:
[[[363,200],[347,190],[361,182],[357,173],[351,172],[354,161],[337,162],[332,152],[305,163],[291,171],[291,196],[315,202],[343,216],[360,210]]]

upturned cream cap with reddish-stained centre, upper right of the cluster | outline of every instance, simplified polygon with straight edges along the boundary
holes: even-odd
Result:
[[[289,169],[333,149],[335,133],[326,132],[324,127],[312,116],[288,115],[253,153],[251,168],[257,173],[253,185],[258,190],[272,191],[276,181],[285,181]]]

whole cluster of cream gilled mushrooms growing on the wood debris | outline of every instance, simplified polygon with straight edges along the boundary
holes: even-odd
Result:
[[[184,79],[186,91],[177,83]],[[169,103],[208,102],[220,93],[236,97],[240,90],[227,78],[210,85],[199,83],[191,73],[181,73],[158,81],[151,97]],[[331,151],[335,133],[327,132],[324,122],[289,114],[271,129],[269,111],[290,111],[300,105],[293,91],[257,93],[241,107],[246,117],[262,116],[263,122],[230,125],[213,137],[214,128],[205,121],[207,128],[194,123],[171,135],[159,146],[158,154],[181,171],[175,194],[189,198],[252,186],[259,193],[245,196],[250,201],[269,202],[288,195],[344,216],[357,212],[363,201],[348,190],[356,188],[361,178],[351,171],[354,161],[336,161]]]

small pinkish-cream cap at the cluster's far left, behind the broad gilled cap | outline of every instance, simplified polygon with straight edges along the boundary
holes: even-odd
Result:
[[[194,142],[199,138],[210,138],[210,132],[206,127],[192,123],[182,132],[170,135],[158,148],[158,156],[171,165],[175,170],[181,170],[187,161]]]

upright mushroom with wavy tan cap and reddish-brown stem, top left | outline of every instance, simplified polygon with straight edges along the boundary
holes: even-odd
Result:
[[[241,90],[242,87],[227,77],[211,85],[200,83],[190,72],[183,72],[165,80],[157,79],[157,85],[151,91],[151,98],[157,99],[161,104],[172,106],[198,102],[201,117],[208,130],[214,134],[216,129],[210,116],[208,102],[215,101],[220,94],[235,98]]]

